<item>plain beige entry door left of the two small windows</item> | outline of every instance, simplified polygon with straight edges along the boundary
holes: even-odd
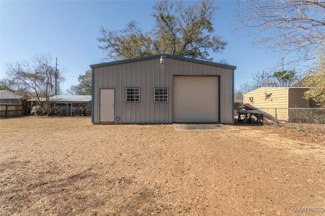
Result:
[[[115,90],[101,89],[100,92],[100,121],[114,122],[115,118]]]

